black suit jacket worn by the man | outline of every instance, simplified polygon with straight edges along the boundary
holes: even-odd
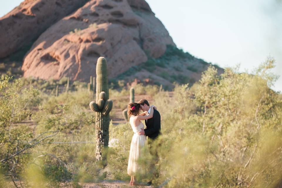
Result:
[[[146,129],[145,135],[151,139],[156,139],[160,135],[161,131],[161,115],[159,111],[154,109],[153,117],[150,119],[145,120]]]

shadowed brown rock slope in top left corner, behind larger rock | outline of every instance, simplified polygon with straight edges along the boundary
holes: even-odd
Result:
[[[0,18],[0,58],[30,45],[48,27],[86,2],[87,0],[25,0]]]

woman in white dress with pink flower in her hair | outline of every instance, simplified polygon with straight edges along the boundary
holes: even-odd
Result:
[[[152,105],[150,108],[153,108]],[[146,136],[138,135],[138,132],[144,129],[144,124],[141,120],[147,120],[153,117],[154,110],[150,110],[150,114],[146,115],[147,112],[139,114],[140,104],[139,103],[130,103],[128,106],[128,115],[130,117],[129,122],[134,132],[134,135],[130,144],[129,160],[127,166],[127,174],[131,176],[130,185],[137,185],[136,175],[140,173],[140,166],[137,163],[137,160],[141,156],[141,147],[145,146]],[[142,129],[142,130],[141,130]]]

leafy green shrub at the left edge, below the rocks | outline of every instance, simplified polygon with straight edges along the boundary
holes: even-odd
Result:
[[[28,160],[28,155],[19,154],[33,147],[27,142],[34,138],[30,128],[20,123],[30,118],[41,98],[37,89],[24,88],[21,79],[9,82],[11,79],[0,78],[0,171],[16,177],[23,167],[19,164]]]

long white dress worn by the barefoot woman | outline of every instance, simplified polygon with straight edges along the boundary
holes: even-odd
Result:
[[[134,135],[130,144],[130,152],[127,166],[127,174],[130,176],[135,176],[141,172],[140,165],[137,160],[142,156],[142,147],[145,146],[146,136],[138,135],[138,132],[141,131],[141,128],[144,129],[144,124],[141,122],[137,127],[130,123]]]

